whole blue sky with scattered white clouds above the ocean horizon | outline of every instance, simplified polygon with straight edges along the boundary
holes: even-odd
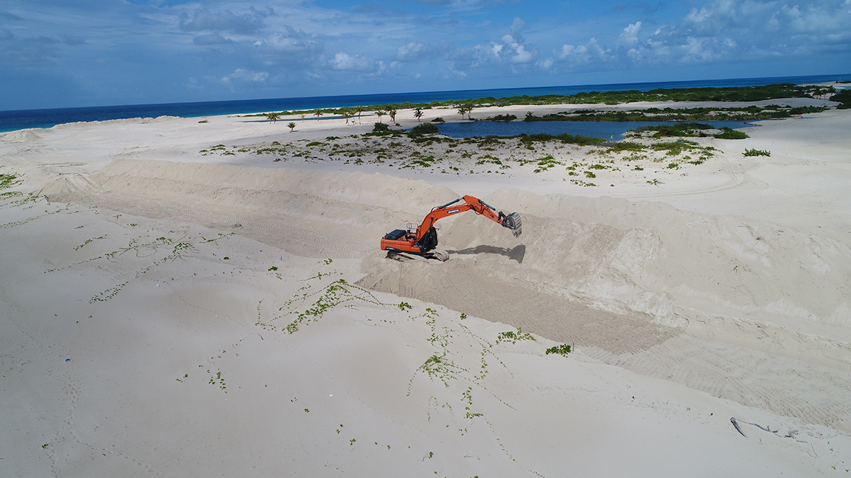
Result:
[[[0,110],[851,71],[851,0],[0,0]]]

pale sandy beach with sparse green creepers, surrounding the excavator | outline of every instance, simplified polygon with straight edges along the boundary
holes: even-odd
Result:
[[[0,134],[0,475],[851,474],[851,111],[676,155],[376,121]],[[465,194],[523,235],[380,251]]]

